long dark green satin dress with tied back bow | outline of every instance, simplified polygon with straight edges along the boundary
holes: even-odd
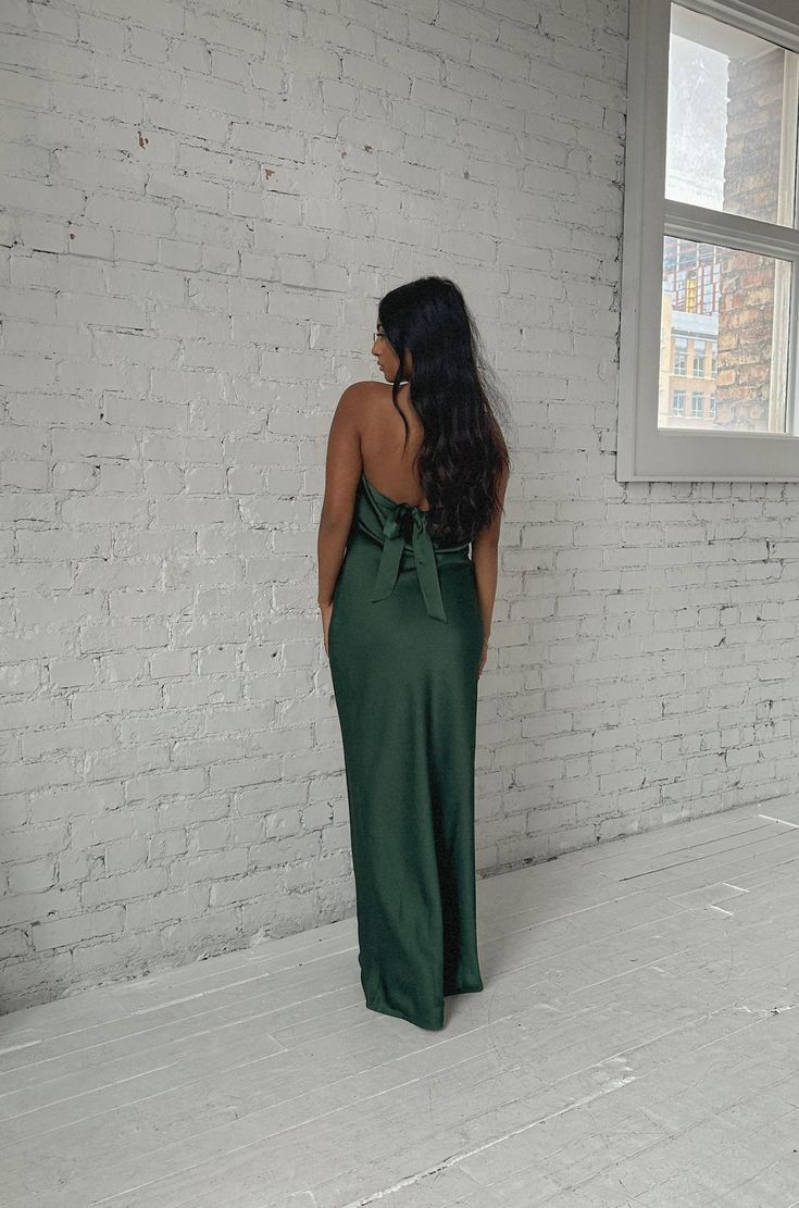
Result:
[[[483,989],[474,749],[483,620],[470,545],[361,476],[328,631],[366,1005],[444,1027]]]

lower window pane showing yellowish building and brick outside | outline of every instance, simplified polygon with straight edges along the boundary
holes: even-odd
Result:
[[[785,432],[791,263],[666,236],[659,428]]]

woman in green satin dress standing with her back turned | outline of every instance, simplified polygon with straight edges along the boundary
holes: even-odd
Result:
[[[366,1005],[438,1029],[444,995],[483,989],[477,686],[509,458],[453,281],[425,277],[386,294],[372,353],[391,385],[348,387],[331,424],[319,604]]]

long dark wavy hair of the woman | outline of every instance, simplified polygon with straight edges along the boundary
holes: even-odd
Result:
[[[454,281],[421,277],[386,294],[378,320],[400,358],[391,397],[406,425],[406,447],[408,420],[397,405],[403,381],[425,430],[414,464],[430,504],[427,528],[439,545],[472,541],[501,507],[500,472],[511,467],[497,419],[507,417],[507,405],[474,318]]]

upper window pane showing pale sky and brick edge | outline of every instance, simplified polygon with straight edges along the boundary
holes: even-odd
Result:
[[[793,52],[671,5],[666,197],[793,226]],[[785,124],[785,130],[783,130]]]

